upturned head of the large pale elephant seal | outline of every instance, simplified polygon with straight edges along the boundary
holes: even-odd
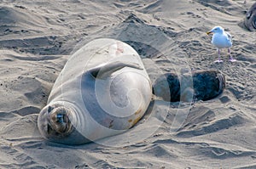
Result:
[[[52,141],[67,138],[74,129],[74,111],[60,104],[47,105],[38,116],[38,129]]]

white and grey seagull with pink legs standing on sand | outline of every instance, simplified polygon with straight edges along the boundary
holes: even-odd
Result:
[[[211,31],[207,31],[207,35],[213,33],[212,36],[212,45],[217,48],[218,50],[218,60],[214,62],[223,62],[220,59],[220,48],[228,48],[230,54],[230,47],[232,47],[232,37],[229,32],[225,32],[221,26],[215,26],[212,28]],[[233,59],[232,55],[230,54],[230,61],[235,62],[236,59]]]

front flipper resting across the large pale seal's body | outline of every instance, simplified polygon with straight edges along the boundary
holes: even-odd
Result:
[[[120,70],[124,67],[131,67],[138,70],[143,70],[143,67],[136,63],[123,63],[123,62],[116,61],[116,62],[96,66],[88,71],[95,78],[105,78],[105,77],[111,76],[113,72]]]

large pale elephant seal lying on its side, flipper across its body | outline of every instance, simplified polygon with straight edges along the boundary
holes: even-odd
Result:
[[[125,42],[96,39],[67,60],[38,115],[38,129],[49,141],[84,144],[133,127],[151,99],[137,52]]]

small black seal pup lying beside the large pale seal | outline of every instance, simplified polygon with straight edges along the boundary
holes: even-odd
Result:
[[[168,86],[165,83],[167,81]],[[195,70],[191,74],[166,73],[154,83],[154,95],[171,102],[209,100],[223,93],[225,77],[218,70]],[[170,90],[170,95],[166,91]]]

